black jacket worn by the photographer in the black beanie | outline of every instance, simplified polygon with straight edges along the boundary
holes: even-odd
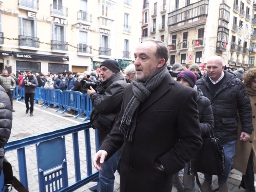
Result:
[[[100,144],[102,144],[106,136],[110,133],[118,119],[124,97],[124,90],[128,86],[121,73],[114,74],[103,82],[103,84],[105,89],[103,94],[92,93],[90,95],[94,108],[90,121],[92,128],[99,129]],[[106,127],[106,124],[102,124],[105,118],[114,118],[114,121],[110,126]]]

